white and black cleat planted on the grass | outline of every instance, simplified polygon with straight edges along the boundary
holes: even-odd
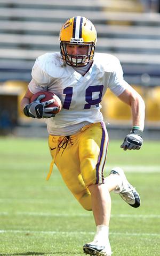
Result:
[[[93,241],[83,246],[85,254],[97,255],[97,256],[111,256],[110,244],[108,246],[98,245],[98,241]]]

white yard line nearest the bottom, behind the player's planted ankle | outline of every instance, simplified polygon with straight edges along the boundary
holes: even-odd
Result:
[[[30,230],[0,230],[0,234],[3,233],[26,233],[26,234],[46,234],[46,235],[94,235],[94,232],[83,231],[30,231]],[[110,232],[110,235],[121,236],[160,236],[157,233],[124,233],[124,232]]]

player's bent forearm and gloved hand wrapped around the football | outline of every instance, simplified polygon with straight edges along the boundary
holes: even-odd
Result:
[[[21,100],[20,108],[23,114],[28,117],[33,118],[49,118],[55,116],[55,114],[51,114],[53,110],[57,110],[57,107],[47,107],[49,104],[54,102],[54,99],[49,101],[41,102],[44,99],[45,95],[39,95],[37,99],[33,102],[30,102],[33,93],[27,89],[25,96]]]

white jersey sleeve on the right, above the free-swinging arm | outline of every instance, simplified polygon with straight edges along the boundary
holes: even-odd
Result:
[[[123,78],[122,66],[117,59],[114,65],[114,71],[110,74],[108,87],[116,96],[119,96],[128,86],[129,84]]]

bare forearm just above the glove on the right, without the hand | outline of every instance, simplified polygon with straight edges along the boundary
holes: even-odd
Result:
[[[131,111],[133,126],[138,126],[143,131],[145,125],[145,102],[140,95],[132,99]]]

